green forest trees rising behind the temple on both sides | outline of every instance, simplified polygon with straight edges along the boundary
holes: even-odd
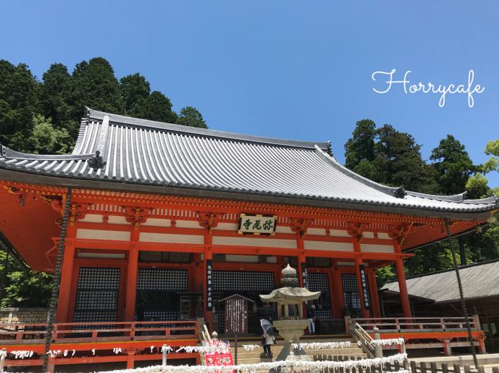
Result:
[[[151,92],[145,76],[136,73],[118,80],[103,57],[80,62],[72,73],[63,64],[53,64],[41,80],[32,75],[28,65],[0,60],[0,144],[26,153],[68,154],[76,142],[85,105],[112,114],[207,128],[194,107],[184,107],[177,113],[166,95]],[[453,135],[442,139],[425,161],[414,137],[389,124],[378,127],[369,119],[343,124],[354,128],[344,145],[345,166],[359,175],[389,186],[403,184],[410,191],[427,194],[499,196],[499,188],[489,187],[486,177],[489,172],[499,172],[499,140],[484,141],[484,151],[491,158],[483,165],[474,164],[465,145]],[[496,259],[499,224],[492,222],[455,241],[460,248],[458,254],[465,253],[468,264]],[[406,259],[406,275],[453,266],[448,241],[415,250],[415,254],[409,261]],[[6,265],[8,268],[1,305],[48,306],[52,276],[22,271],[17,262],[6,262],[5,257],[0,252],[0,271]],[[391,267],[380,269],[378,286],[393,276]]]

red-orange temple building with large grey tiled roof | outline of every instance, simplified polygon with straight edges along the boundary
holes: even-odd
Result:
[[[36,271],[57,270],[56,323],[196,320],[223,334],[221,299],[280,287],[287,265],[320,291],[318,318],[380,318],[392,263],[403,316],[407,250],[487,224],[495,197],[389,187],[344,168],[330,142],[280,140],[106,114],[82,118],[69,155],[0,149],[0,230]],[[276,311],[276,310],[274,310]],[[82,327],[85,329],[84,327]],[[174,335],[175,331],[171,331]]]

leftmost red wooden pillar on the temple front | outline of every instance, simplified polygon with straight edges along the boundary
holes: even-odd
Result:
[[[74,264],[74,241],[77,233],[77,222],[67,227],[64,247],[63,265],[60,269],[59,299],[56,312],[56,323],[67,323],[67,311],[70,304],[71,284]],[[76,289],[74,289],[76,292]]]

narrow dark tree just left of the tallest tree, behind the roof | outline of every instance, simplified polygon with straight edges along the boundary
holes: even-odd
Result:
[[[59,108],[63,104],[63,91],[67,90],[71,75],[63,64],[53,64],[42,76],[39,112],[51,118],[53,126],[61,128]]]

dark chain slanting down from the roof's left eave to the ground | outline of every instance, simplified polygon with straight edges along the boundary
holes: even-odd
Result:
[[[57,264],[56,264],[56,273],[53,275],[53,285],[52,285],[52,297],[50,302],[50,310],[48,311],[48,325],[45,339],[45,354],[44,354],[44,367],[41,369],[41,372],[47,372],[48,366],[48,351],[50,351],[50,344],[52,339],[52,331],[53,331],[53,321],[56,316],[56,304],[59,293],[59,285],[60,285],[60,267],[63,264],[63,255],[64,255],[64,247],[66,240],[66,229],[67,229],[67,218],[70,215],[70,205],[71,205],[71,188],[67,188],[66,194],[66,204],[64,208],[63,215],[63,223],[60,226],[60,241],[59,241],[59,250],[57,252]]]

